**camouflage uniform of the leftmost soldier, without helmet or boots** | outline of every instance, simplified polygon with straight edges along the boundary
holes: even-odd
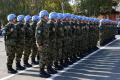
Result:
[[[10,31],[13,29],[13,31]],[[12,23],[8,23],[5,26],[5,49],[7,53],[7,67],[12,67],[13,60],[16,54],[16,42],[17,42],[17,30],[16,26]]]

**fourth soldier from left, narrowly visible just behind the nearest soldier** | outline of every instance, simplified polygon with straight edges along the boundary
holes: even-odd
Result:
[[[32,47],[31,47],[31,50],[32,50],[31,61],[32,61],[32,64],[34,65],[39,64],[39,61],[38,61],[39,55],[37,54],[38,49],[37,49],[36,38],[35,38],[35,30],[36,30],[38,21],[39,21],[39,16],[35,15],[32,17],[31,28],[33,30],[33,36],[32,36]],[[36,56],[37,56],[37,61],[35,60]]]

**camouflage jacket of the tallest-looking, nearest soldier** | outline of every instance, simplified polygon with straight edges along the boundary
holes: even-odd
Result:
[[[35,32],[36,42],[39,46],[43,46],[44,44],[48,43],[49,34],[48,34],[48,25],[47,21],[41,19],[36,27]]]

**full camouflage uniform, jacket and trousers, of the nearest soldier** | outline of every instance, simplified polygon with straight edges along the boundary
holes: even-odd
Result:
[[[47,21],[42,18],[41,21],[38,22],[36,28],[36,41],[40,56],[40,62],[39,62],[40,70],[43,70],[46,65],[48,66],[48,60],[49,60],[48,59],[49,32],[47,26],[48,26]]]

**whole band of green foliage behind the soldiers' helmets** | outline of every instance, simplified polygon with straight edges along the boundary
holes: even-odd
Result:
[[[119,3],[120,0],[75,0],[76,4],[71,6],[70,0],[1,0],[0,1],[0,19],[6,23],[6,16],[10,13],[19,14],[38,14],[46,9],[49,12],[75,13],[87,16],[98,16],[101,13],[110,13],[113,1]]]

